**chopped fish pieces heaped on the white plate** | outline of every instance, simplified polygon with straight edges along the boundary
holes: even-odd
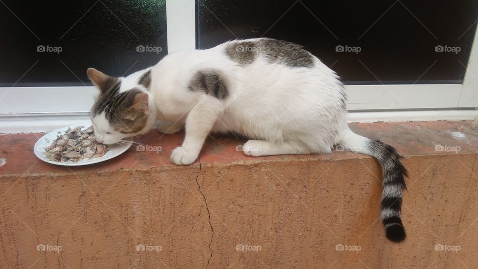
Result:
[[[105,155],[109,147],[96,142],[93,126],[85,130],[84,126],[68,128],[64,134],[58,132],[58,137],[45,149],[46,159],[54,162],[78,162],[83,159],[98,158]],[[50,143],[48,140],[47,143]]]

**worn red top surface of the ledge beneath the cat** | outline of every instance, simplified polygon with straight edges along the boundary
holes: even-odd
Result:
[[[434,122],[377,122],[351,123],[358,134],[371,139],[379,139],[397,149],[405,158],[420,155],[455,154],[453,148],[440,151],[439,146],[459,147],[460,154],[477,153],[478,123],[473,121],[434,121]],[[466,132],[464,134],[464,132]],[[453,135],[455,134],[455,136]],[[43,133],[0,135],[2,152],[0,158],[7,160],[0,167],[0,176],[24,173],[71,173],[84,171],[149,170],[161,167],[176,167],[169,161],[171,151],[180,146],[184,133],[163,135],[156,130],[140,137],[140,143],[151,147],[161,147],[161,151],[138,151],[133,145],[122,155],[95,165],[84,167],[61,167],[39,161],[33,154],[32,145]],[[461,137],[463,136],[464,137]],[[296,160],[345,160],[371,158],[351,152],[335,151],[329,155],[282,155],[267,157],[248,157],[236,148],[245,143],[233,136],[213,135],[208,137],[200,155],[202,166],[214,165],[253,165],[260,162],[289,162]],[[457,148],[458,149],[458,148]],[[199,160],[193,166],[199,166]]]

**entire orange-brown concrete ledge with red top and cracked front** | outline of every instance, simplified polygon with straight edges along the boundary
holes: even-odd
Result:
[[[352,128],[406,158],[403,244],[384,236],[381,173],[368,156],[257,159],[236,151],[243,140],[214,136],[200,161],[176,167],[169,154],[184,134],[152,131],[141,142],[162,147],[159,153],[132,147],[69,169],[36,159],[32,145],[41,134],[2,135],[0,268],[473,268],[474,122]],[[61,251],[37,251],[40,244]]]

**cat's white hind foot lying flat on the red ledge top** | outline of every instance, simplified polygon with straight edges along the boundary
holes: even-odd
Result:
[[[242,146],[242,151],[244,155],[251,157],[312,153],[312,151],[302,143],[291,141],[277,143],[265,140],[249,140]]]

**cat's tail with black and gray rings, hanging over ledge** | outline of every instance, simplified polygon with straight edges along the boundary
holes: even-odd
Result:
[[[383,174],[380,216],[387,238],[402,242],[406,237],[401,219],[402,191],[406,189],[404,177],[407,177],[407,170],[400,162],[403,157],[392,146],[355,134],[349,128],[342,133],[339,144],[344,150],[373,156],[380,163]]]

